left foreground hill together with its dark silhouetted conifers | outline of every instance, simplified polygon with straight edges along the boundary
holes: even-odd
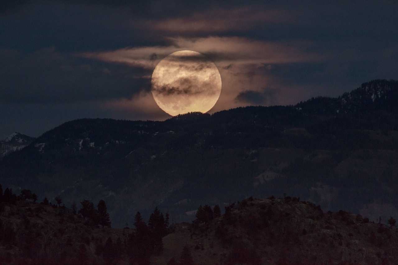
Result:
[[[105,201],[65,207],[47,198],[37,203],[30,190],[20,195],[0,185],[0,264],[150,264],[163,250],[169,217],[158,208],[148,224],[138,212],[135,229],[112,229]]]

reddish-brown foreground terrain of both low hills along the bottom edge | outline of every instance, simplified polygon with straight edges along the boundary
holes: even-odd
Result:
[[[395,226],[345,211],[326,213],[291,197],[249,198],[219,217],[172,224],[150,263],[135,250],[145,245],[145,237],[137,240],[140,230],[91,226],[67,208],[28,201],[3,208],[1,264],[398,264]]]

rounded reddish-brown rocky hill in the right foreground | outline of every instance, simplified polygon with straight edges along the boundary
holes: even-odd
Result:
[[[153,264],[178,260],[184,246],[195,264],[398,264],[398,230],[345,211],[323,212],[298,198],[245,199],[207,223],[177,224]]]

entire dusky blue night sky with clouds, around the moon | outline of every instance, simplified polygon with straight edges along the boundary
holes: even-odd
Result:
[[[77,118],[169,118],[153,100],[150,76],[178,50],[201,52],[218,67],[222,91],[210,113],[397,79],[397,14],[396,0],[6,0],[0,139],[38,136]]]

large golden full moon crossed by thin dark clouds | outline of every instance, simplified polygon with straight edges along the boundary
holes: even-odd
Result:
[[[151,85],[156,104],[168,114],[205,113],[220,97],[221,76],[203,54],[181,50],[156,65]]]

